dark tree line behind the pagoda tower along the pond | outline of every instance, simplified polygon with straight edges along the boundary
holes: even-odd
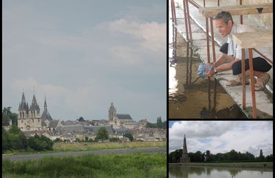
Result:
[[[182,157],[182,149],[177,149],[169,153],[169,162],[177,163],[180,157]],[[209,150],[204,153],[201,153],[201,151],[197,151],[196,153],[190,152],[188,153],[188,157],[190,157],[190,162],[263,162],[273,160],[273,154],[264,156],[262,150],[260,150],[259,157],[255,157],[248,151],[241,153],[240,151],[234,151],[234,149],[227,153],[217,154],[212,154]]]

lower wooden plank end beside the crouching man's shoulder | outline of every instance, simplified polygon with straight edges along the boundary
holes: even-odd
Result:
[[[273,46],[273,31],[255,31],[232,34],[232,40],[244,49]]]

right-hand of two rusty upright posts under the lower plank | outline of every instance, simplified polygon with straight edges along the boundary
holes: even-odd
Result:
[[[254,77],[253,77],[252,49],[251,48],[248,49],[248,54],[249,54],[249,65],[250,65],[250,81],[251,81],[253,118],[257,118],[256,99],[255,99],[255,86],[254,86]]]

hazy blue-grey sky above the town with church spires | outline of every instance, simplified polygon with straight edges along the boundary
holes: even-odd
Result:
[[[166,1],[3,0],[3,107],[166,120]]]

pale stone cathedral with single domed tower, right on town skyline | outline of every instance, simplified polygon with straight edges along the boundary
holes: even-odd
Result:
[[[113,125],[114,129],[126,127],[127,129],[133,129],[137,127],[137,123],[129,114],[116,114],[113,103],[109,108],[109,125]]]

